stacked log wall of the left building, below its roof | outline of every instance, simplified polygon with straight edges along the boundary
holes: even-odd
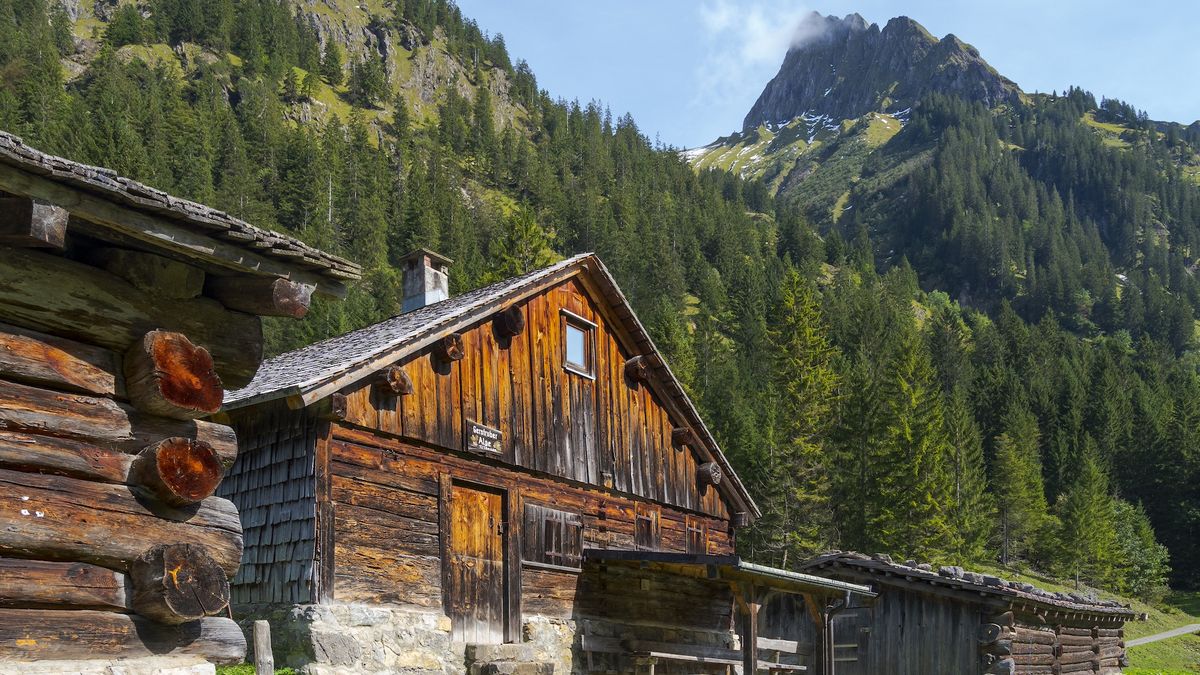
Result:
[[[0,245],[0,661],[241,661],[241,524],[214,496],[236,437],[199,418],[260,363],[246,311],[302,315],[311,288],[29,246]]]

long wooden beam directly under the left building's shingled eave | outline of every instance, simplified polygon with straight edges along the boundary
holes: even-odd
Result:
[[[346,286],[317,271],[289,261],[258,255],[244,246],[222,241],[200,232],[199,225],[186,225],[166,217],[122,207],[103,197],[41,178],[17,167],[0,163],[0,190],[29,195],[67,208],[83,219],[78,228],[86,234],[119,245],[140,245],[162,251],[182,261],[204,265],[210,271],[233,271],[282,276],[310,283],[320,293],[346,295]]]

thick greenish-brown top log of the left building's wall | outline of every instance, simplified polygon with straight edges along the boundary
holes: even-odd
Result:
[[[0,315],[120,353],[150,330],[182,333],[209,350],[229,388],[247,384],[263,360],[257,316],[206,298],[164,303],[100,268],[41,251],[0,246]]]

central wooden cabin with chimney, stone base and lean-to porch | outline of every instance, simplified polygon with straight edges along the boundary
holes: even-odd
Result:
[[[448,297],[449,264],[413,252],[404,313],[226,396],[233,602],[276,663],[823,671],[823,633],[760,634],[763,603],[870,589],[734,555],[758,509],[604,264]]]

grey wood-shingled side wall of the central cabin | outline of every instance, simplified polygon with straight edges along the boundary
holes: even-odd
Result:
[[[313,602],[316,482],[320,423],[283,401],[234,419],[240,452],[217,489],[241,514],[241,568],[234,604]]]

